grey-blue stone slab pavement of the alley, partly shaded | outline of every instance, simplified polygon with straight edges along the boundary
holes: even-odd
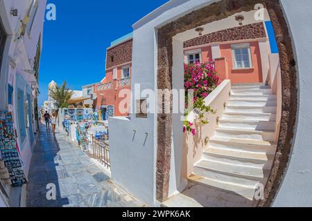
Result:
[[[41,126],[28,174],[27,206],[144,206],[110,180],[67,134]],[[55,184],[56,200],[47,200],[47,184]]]

